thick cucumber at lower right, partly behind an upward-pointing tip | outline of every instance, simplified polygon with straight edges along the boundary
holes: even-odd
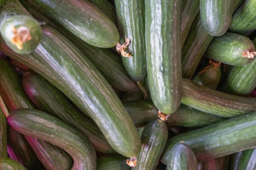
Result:
[[[167,164],[172,147],[181,140],[191,147],[198,163],[247,150],[256,147],[254,130],[256,113],[191,130],[169,139],[160,161]]]

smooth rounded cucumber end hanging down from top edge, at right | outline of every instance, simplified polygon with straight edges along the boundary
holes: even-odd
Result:
[[[203,26],[211,36],[221,36],[232,20],[231,0],[200,0]]]

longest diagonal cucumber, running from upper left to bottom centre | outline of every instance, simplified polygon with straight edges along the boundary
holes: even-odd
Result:
[[[55,85],[79,110],[89,113],[113,149],[126,157],[136,156],[140,137],[108,82],[68,39],[54,28],[42,28],[42,41],[32,54],[15,54],[1,40],[0,47]],[[58,48],[52,48],[56,45]]]

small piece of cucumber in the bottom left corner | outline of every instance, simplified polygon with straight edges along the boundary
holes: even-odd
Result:
[[[26,168],[10,158],[0,158],[0,170],[26,170]]]

